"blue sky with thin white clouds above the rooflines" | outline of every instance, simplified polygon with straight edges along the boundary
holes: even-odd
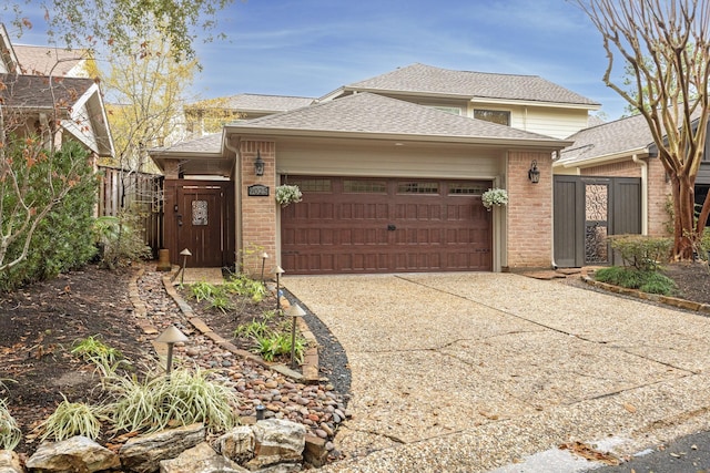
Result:
[[[540,75],[602,104],[625,102],[604,85],[599,32],[565,0],[235,0],[226,40],[195,44],[202,99],[263,93],[321,96],[415,62]],[[41,44],[36,29],[18,42]]]

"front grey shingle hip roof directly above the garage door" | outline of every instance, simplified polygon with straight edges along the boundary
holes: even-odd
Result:
[[[373,93],[357,93],[304,109],[226,125],[242,130],[369,133],[409,137],[557,140],[509,126],[468,119]]]

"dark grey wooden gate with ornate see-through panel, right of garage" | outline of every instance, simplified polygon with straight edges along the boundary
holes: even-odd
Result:
[[[555,263],[560,268],[617,264],[609,235],[641,233],[638,177],[555,176]]]

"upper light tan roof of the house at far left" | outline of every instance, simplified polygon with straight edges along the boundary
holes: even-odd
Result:
[[[85,60],[84,51],[26,44],[13,44],[12,48],[23,74],[87,76],[85,72],[73,71]]]

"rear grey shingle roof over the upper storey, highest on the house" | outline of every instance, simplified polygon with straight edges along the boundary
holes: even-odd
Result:
[[[565,103],[592,107],[599,105],[537,75],[453,71],[418,63],[355,82],[345,89]]]

